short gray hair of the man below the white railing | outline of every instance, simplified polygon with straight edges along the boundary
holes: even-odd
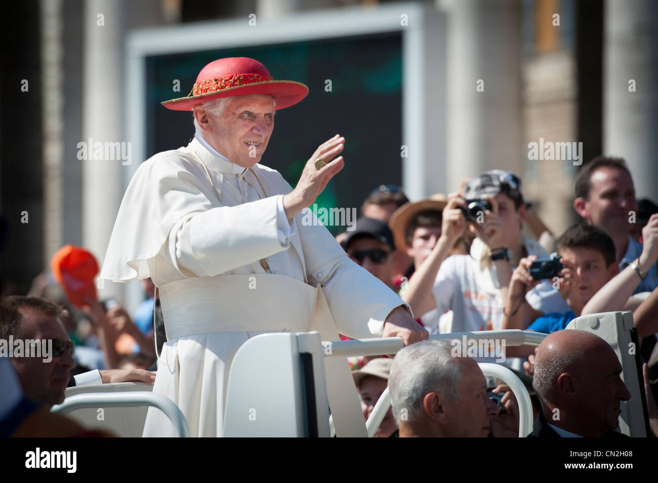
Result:
[[[403,409],[409,421],[422,416],[422,398],[428,392],[438,392],[451,401],[459,400],[457,385],[461,373],[451,348],[438,340],[417,342],[400,350],[393,359],[388,378],[397,425]]]

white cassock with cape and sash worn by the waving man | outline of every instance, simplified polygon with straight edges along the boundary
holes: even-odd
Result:
[[[318,292],[338,332],[353,338],[381,336],[404,304],[325,227],[303,224],[302,214],[289,223],[282,198],[290,191],[276,170],[242,168],[201,137],[141,164],[126,190],[101,278],[151,277],[159,288],[168,341],[153,392],[178,404],[191,436],[222,435],[240,345],[311,330]],[[173,426],[151,408],[144,436],[174,436]]]

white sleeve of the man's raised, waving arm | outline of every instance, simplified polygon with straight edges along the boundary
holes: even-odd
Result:
[[[212,277],[286,250],[293,233],[283,195],[218,206],[174,226],[170,258],[184,273]]]

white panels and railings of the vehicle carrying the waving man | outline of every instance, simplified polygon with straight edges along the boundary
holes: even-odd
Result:
[[[620,430],[628,436],[644,437],[647,434],[647,414],[644,385],[640,384],[642,372],[636,355],[637,337],[633,327],[630,312],[609,312],[578,317],[569,323],[567,329],[595,333],[615,350],[622,363],[622,379],[632,394],[629,401],[622,402]],[[505,346],[538,346],[547,335],[508,330],[436,334],[430,336],[430,339],[452,341],[463,340],[464,336],[469,341],[505,340]],[[490,344],[482,346],[490,347]],[[333,398],[337,406],[343,400],[347,402],[342,409],[334,409],[332,414],[340,423],[337,426],[338,436],[372,437],[390,407],[388,388],[365,422],[360,409],[351,411],[355,409],[350,406],[351,403],[359,403],[353,383],[340,386],[335,381],[328,381],[327,376],[334,375],[326,371],[324,358],[395,354],[402,347],[402,340],[396,337],[322,342],[317,332],[269,333],[250,338],[238,349],[232,361],[226,391],[223,436],[334,436],[333,419],[328,417],[328,400]],[[480,363],[480,369],[485,376],[501,379],[510,387],[519,403],[519,436],[529,434],[532,430],[532,405],[519,378],[498,364]],[[63,404],[53,407],[53,411],[68,413],[80,408],[130,406],[134,418],[131,421],[139,419],[143,426],[145,413],[139,413],[136,417],[137,410],[144,411],[143,406],[151,405],[169,417],[178,436],[189,436],[184,415],[164,396],[140,390],[141,386],[132,383],[102,386],[92,386],[89,392],[85,392],[85,386],[75,388],[84,394],[68,396]],[[336,387],[340,390],[336,391]],[[118,390],[120,393],[108,394],[99,392],[101,390]],[[328,394],[328,390],[333,392]],[[84,411],[78,411],[76,416]],[[76,419],[93,427],[97,423],[94,415],[93,411],[88,411],[82,418]],[[125,417],[125,414],[118,415],[118,419]]]

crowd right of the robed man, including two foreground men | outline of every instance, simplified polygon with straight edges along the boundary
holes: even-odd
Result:
[[[610,346],[594,334],[564,329],[580,315],[632,311],[639,357],[647,363],[651,427],[658,434],[658,207],[636,200],[632,175],[621,158],[595,158],[574,185],[574,210],[581,219],[559,236],[524,200],[517,175],[491,170],[468,179],[449,196],[417,202],[409,202],[398,187],[382,185],[368,196],[355,230],[337,240],[352,260],[399,292],[430,334],[492,329],[551,334],[540,348],[505,351],[505,363],[520,371],[532,396],[536,425],[530,436],[619,434],[613,431],[619,402],[630,397],[620,379],[619,360],[610,357]],[[479,213],[473,202],[481,203]],[[531,273],[538,260],[561,265],[547,278]],[[518,408],[509,388],[493,387],[493,382],[488,387],[476,365],[453,361],[450,354],[435,341],[401,350],[393,369],[381,357],[351,359],[365,419],[377,402],[373,396],[381,394],[388,380],[393,412],[375,436],[479,436],[480,430],[484,436],[518,436]],[[393,377],[395,367],[404,369]],[[478,376],[471,380],[472,374]],[[607,377],[612,385],[566,386],[565,381],[579,375],[590,382]],[[495,399],[501,388],[505,395],[498,414],[486,390]],[[562,392],[567,390],[572,394]],[[466,394],[478,394],[484,402],[474,409],[465,404]],[[555,423],[551,425],[547,417],[555,407],[569,417],[557,423],[548,419]],[[399,419],[402,408],[414,408],[406,423]],[[453,418],[450,411],[456,411]],[[593,414],[601,413],[607,419],[592,421]],[[475,426],[463,424],[464,418]],[[395,432],[390,431],[391,421],[397,421]]]

